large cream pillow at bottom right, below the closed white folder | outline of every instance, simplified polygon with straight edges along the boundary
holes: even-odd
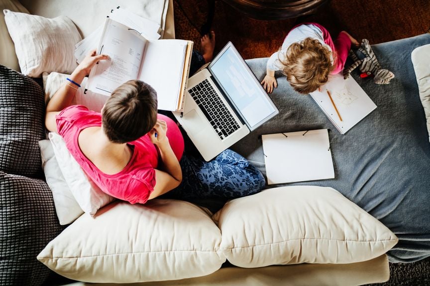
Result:
[[[360,262],[398,241],[376,218],[325,187],[268,189],[228,202],[214,218],[227,260],[246,268]]]

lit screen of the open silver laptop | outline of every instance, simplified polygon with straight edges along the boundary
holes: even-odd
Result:
[[[251,131],[278,113],[231,43],[216,56],[208,69]]]

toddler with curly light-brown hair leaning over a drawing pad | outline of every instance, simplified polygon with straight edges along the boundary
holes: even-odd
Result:
[[[278,52],[267,61],[267,71],[261,84],[268,93],[278,84],[275,71],[282,71],[291,86],[307,94],[319,89],[330,73],[342,71],[351,44],[357,40],[342,31],[333,42],[328,31],[317,23],[294,27],[285,37]]]

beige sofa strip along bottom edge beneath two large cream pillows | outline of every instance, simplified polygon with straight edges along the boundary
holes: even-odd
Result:
[[[363,275],[365,273],[365,275]],[[97,286],[357,286],[387,282],[387,255],[348,264],[273,265],[260,268],[223,267],[213,274],[173,281]],[[74,283],[70,286],[89,286]]]

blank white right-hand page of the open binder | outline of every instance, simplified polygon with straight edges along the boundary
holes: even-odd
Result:
[[[145,47],[138,79],[155,89],[158,109],[177,109],[187,45],[185,40],[156,40]]]

